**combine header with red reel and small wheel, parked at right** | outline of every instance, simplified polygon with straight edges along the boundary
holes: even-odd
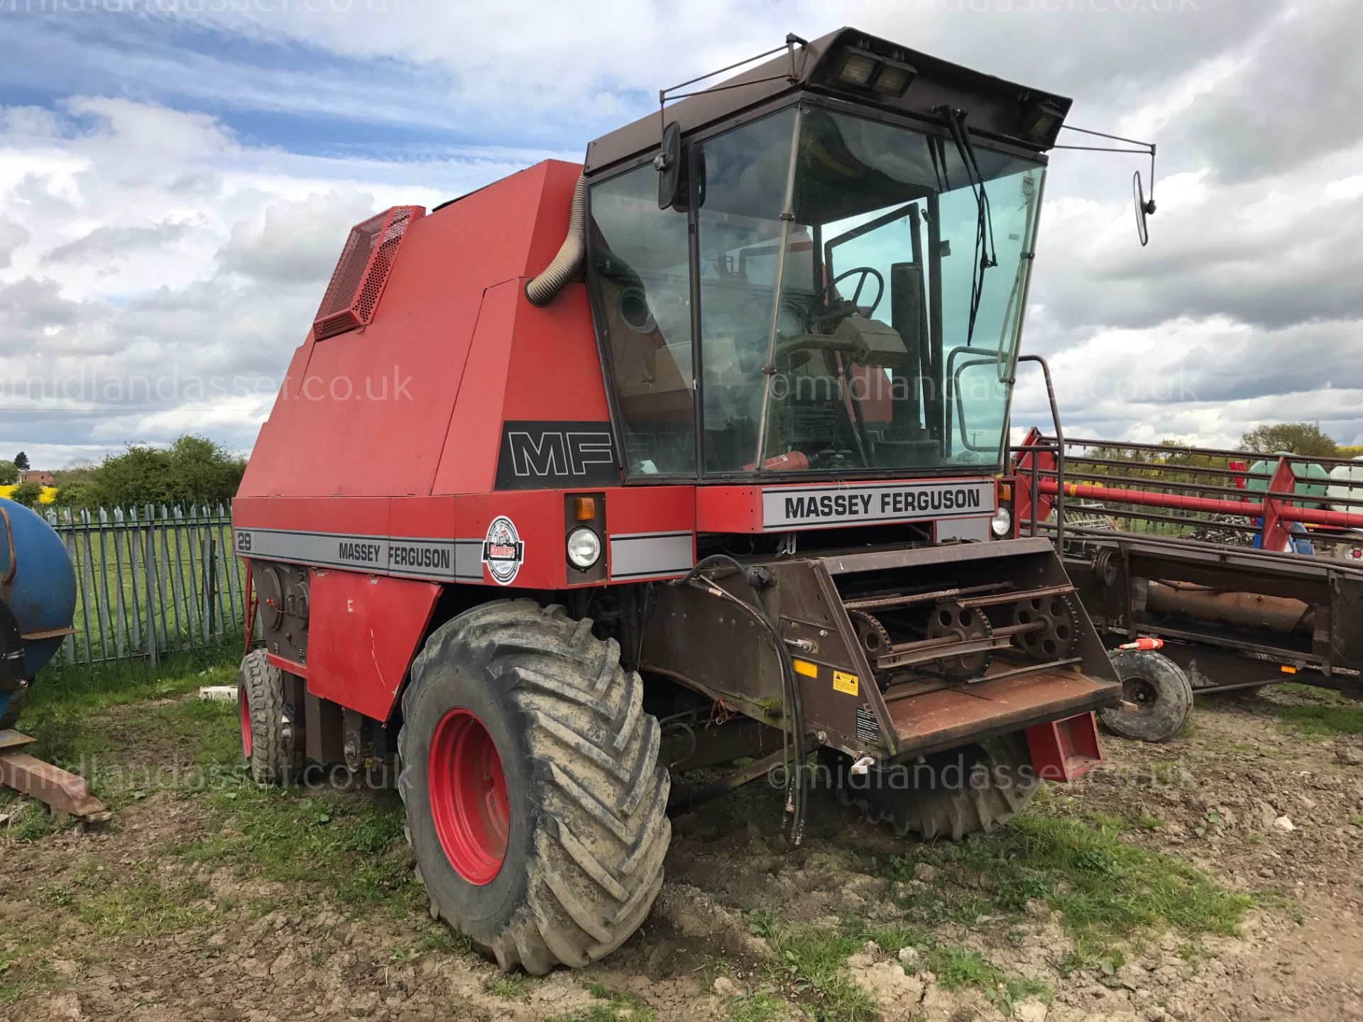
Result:
[[[1299,681],[1363,699],[1358,462],[1030,431],[1021,529],[1050,536],[1114,657],[1123,737],[1160,741],[1194,692]],[[1358,480],[1358,481],[1356,481]]]

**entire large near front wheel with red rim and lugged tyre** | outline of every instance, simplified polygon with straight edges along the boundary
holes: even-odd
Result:
[[[431,913],[503,969],[609,954],[662,886],[658,722],[613,639],[497,601],[438,628],[402,696],[398,790]]]

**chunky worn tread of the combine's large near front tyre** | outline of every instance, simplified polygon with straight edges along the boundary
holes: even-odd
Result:
[[[592,627],[529,600],[474,608],[431,635],[403,692],[410,719],[425,672],[472,657],[495,665],[507,706],[523,719],[534,763],[526,897],[500,932],[470,935],[503,969],[542,974],[598,961],[634,933],[662,886],[671,823],[658,724],[642,713],[642,679]],[[427,793],[413,790],[406,766],[398,789],[410,805]],[[453,908],[427,890],[435,912],[458,927]]]

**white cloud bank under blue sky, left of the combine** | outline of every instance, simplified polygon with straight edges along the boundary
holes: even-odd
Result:
[[[0,433],[53,458],[183,432],[249,448],[349,228],[538,158],[300,157],[154,104],[64,113],[0,120],[25,128],[0,134]]]

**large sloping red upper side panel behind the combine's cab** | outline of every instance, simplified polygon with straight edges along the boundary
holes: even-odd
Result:
[[[522,294],[563,241],[581,172],[547,161],[414,221],[373,322],[309,335],[294,354],[239,497],[427,496],[477,489],[480,477],[491,489],[491,471],[466,474],[461,452],[495,463],[502,402],[547,418],[563,380],[587,390],[559,391],[560,403],[604,420],[585,289],[547,309]],[[507,372],[508,357],[534,371]]]

